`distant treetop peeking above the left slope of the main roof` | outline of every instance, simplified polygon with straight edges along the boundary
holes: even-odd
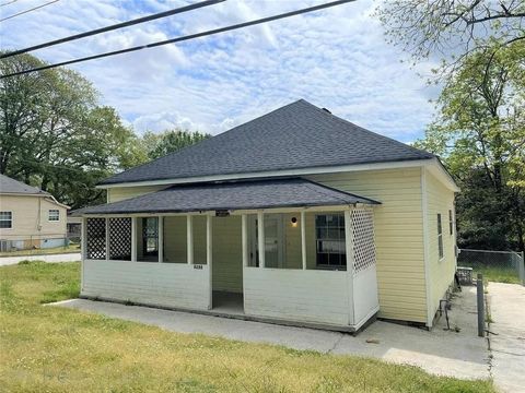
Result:
[[[148,158],[155,159],[199,143],[210,136],[210,134],[198,131],[190,132],[178,129],[166,130],[161,133],[147,131],[142,136],[142,143],[145,146]]]

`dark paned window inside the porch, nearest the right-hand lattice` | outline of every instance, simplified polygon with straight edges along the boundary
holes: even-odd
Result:
[[[315,216],[317,267],[346,269],[345,216],[319,214]]]

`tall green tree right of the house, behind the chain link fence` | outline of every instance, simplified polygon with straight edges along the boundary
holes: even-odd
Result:
[[[518,248],[525,234],[525,41],[465,57],[420,147],[440,154],[463,192],[459,243]]]

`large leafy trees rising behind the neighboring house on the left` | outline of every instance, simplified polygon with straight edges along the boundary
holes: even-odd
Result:
[[[0,60],[1,74],[45,64]],[[96,182],[145,159],[137,136],[79,73],[54,69],[0,80],[0,172],[81,207],[102,202]]]

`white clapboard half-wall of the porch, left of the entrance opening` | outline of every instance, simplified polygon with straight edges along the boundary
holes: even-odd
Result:
[[[82,262],[83,296],[162,307],[207,310],[208,266],[188,264],[91,261]]]

